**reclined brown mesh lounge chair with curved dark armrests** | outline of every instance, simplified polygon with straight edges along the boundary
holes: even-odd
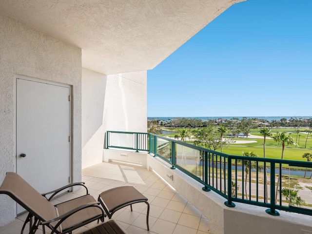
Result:
[[[50,203],[50,200],[59,192],[76,185],[85,187],[86,195],[58,205]],[[29,234],[34,234],[39,225],[42,226],[43,233],[45,233],[45,227],[48,227],[51,229],[51,234],[71,234],[73,230],[87,223],[95,220],[104,221],[106,216],[99,203],[88,194],[88,189],[82,182],[69,184],[41,195],[18,174],[8,172],[0,186],[0,194],[9,195],[29,212],[21,234],[28,222]],[[50,194],[52,195],[47,198]]]

